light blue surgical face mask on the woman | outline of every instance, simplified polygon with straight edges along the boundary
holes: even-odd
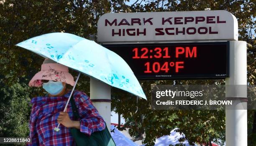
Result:
[[[43,88],[51,95],[57,95],[62,91],[64,86],[62,85],[62,82],[49,81],[47,83],[43,83]]]

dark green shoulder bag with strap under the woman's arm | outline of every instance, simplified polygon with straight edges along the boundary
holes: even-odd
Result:
[[[70,101],[74,118],[77,120],[79,113],[74,98],[72,97]],[[90,136],[85,135],[77,128],[70,128],[70,132],[77,146],[115,146],[107,126],[104,130],[93,132]]]

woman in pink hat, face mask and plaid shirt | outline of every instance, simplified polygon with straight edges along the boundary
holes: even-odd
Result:
[[[31,100],[32,110],[30,116],[31,146],[74,146],[74,138],[69,128],[77,128],[88,136],[95,131],[105,129],[105,122],[92,105],[90,98],[81,91],[74,91],[74,98],[79,121],[74,121],[71,104],[67,112],[63,112],[70,95],[67,84],[74,86],[74,78],[68,72],[68,67],[46,59],[41,65],[41,71],[29,82],[29,86],[40,87],[48,92],[46,96],[38,96]],[[60,131],[54,131],[61,123]]]

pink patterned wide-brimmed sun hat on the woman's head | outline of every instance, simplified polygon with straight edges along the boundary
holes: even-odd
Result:
[[[36,73],[35,76],[29,81],[28,86],[40,87],[42,86],[42,80],[52,80],[65,82],[71,86],[74,86],[74,77],[69,73],[69,68],[60,63],[46,58],[41,65],[41,71]]]

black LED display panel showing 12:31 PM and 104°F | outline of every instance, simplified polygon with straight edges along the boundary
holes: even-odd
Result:
[[[103,45],[120,55],[138,79],[229,76],[228,42]]]

